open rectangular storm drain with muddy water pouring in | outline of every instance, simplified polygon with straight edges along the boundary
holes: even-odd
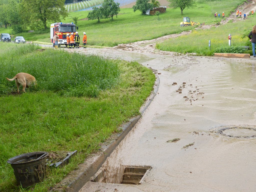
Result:
[[[145,174],[151,167],[125,167],[124,173],[120,177],[121,182],[119,184],[132,184],[139,185],[142,184]],[[99,183],[116,183],[116,182],[107,182],[106,175],[102,170],[99,170],[94,177],[91,178],[92,182]]]

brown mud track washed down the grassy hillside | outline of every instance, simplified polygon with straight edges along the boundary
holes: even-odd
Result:
[[[251,10],[256,9],[255,1],[248,1],[248,3],[243,3],[243,5],[239,6],[237,8],[238,10],[241,10],[243,13],[246,13],[248,15]],[[220,24],[227,24],[230,20],[234,19],[234,22],[237,22],[239,20],[242,20],[242,18],[236,18],[236,12],[231,13],[229,17],[226,17],[225,20],[221,20]],[[195,29],[209,29],[211,27],[218,27],[220,25],[212,24],[212,25],[201,25],[196,27]],[[111,49],[122,49],[124,51],[132,51],[132,52],[139,52],[139,53],[150,53],[150,54],[159,54],[159,55],[179,55],[177,52],[172,51],[162,51],[155,48],[156,43],[163,42],[164,40],[170,39],[170,38],[177,38],[183,35],[189,35],[192,32],[192,30],[189,31],[183,31],[179,34],[171,34],[171,35],[165,35],[162,37],[158,37],[156,39],[151,40],[144,40],[144,41],[136,41],[133,43],[128,44],[119,44],[118,46],[112,47]],[[190,53],[190,55],[195,55],[195,53]]]

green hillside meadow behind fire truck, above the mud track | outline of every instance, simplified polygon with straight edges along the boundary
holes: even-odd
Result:
[[[97,46],[116,46],[121,43],[130,43],[140,40],[148,40],[160,36],[190,30],[193,27],[180,27],[180,22],[183,16],[188,16],[195,22],[214,24],[221,20],[215,18],[214,13],[225,12],[226,16],[234,11],[241,4],[242,0],[198,0],[197,7],[194,9],[185,9],[183,15],[180,10],[172,10],[167,8],[166,13],[160,14],[160,20],[157,16],[141,15],[141,12],[133,12],[133,9],[121,9],[120,14],[114,20],[101,19],[100,23],[97,20],[84,20],[89,11],[80,11],[69,13],[69,16],[61,22],[73,22],[71,17],[78,17],[77,26],[79,26],[79,34],[86,32],[88,45]],[[1,29],[0,29],[1,31]],[[44,31],[35,31],[35,33],[21,33],[17,36],[24,36],[28,41],[50,42],[49,29]]]

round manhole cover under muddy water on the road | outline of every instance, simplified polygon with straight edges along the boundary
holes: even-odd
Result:
[[[256,127],[228,126],[215,131],[217,135],[232,138],[256,138]]]

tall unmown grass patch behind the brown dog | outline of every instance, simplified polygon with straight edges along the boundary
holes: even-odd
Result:
[[[114,60],[38,49],[34,45],[2,44],[5,50],[0,55],[3,61],[0,63],[0,94],[17,89],[15,82],[5,77],[13,78],[19,72],[33,75],[38,82],[37,89],[78,97],[97,97],[101,90],[111,88],[119,77]]]

